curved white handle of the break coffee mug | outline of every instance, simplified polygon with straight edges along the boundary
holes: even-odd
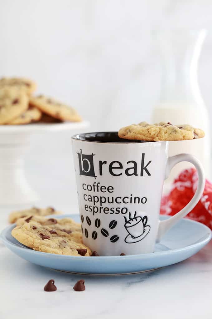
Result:
[[[194,156],[190,154],[178,154],[172,157],[168,158],[167,166],[166,166],[166,172],[165,172],[165,179],[168,177],[172,167],[176,165],[179,162],[190,162],[192,163],[198,173],[198,185],[197,189],[195,191],[194,196],[190,200],[190,202],[181,209],[181,211],[178,211],[174,216],[170,217],[169,219],[159,221],[159,227],[158,227],[158,234],[157,234],[157,240],[156,242],[159,242],[162,238],[162,236],[172,227],[174,226],[181,218],[185,217],[198,203],[200,200],[204,187],[205,187],[205,173],[202,167],[201,162]]]

